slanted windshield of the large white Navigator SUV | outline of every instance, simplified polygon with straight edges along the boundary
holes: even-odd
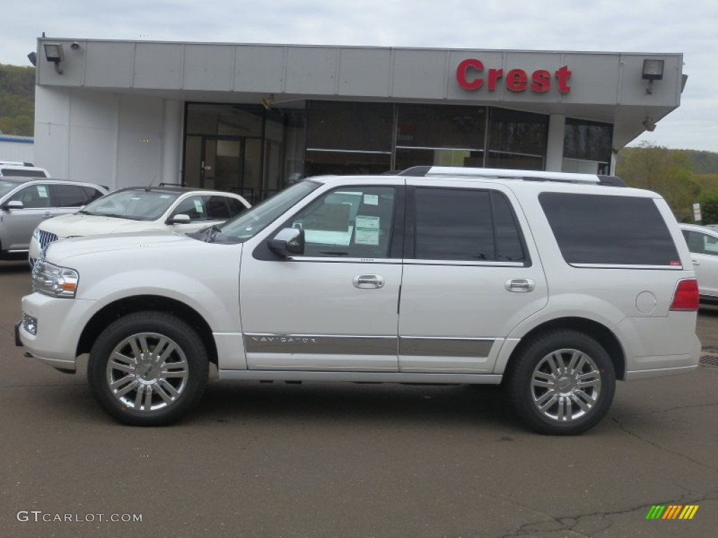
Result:
[[[264,200],[261,204],[253,206],[233,220],[225,222],[218,227],[221,241],[245,242],[254,237],[278,219],[282,213],[297,204],[320,184],[314,181],[300,181],[287,189]]]

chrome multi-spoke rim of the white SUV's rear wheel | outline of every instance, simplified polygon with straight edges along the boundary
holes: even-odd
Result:
[[[601,372],[589,355],[558,349],[543,357],[531,374],[533,405],[544,417],[570,422],[587,415],[601,393]]]

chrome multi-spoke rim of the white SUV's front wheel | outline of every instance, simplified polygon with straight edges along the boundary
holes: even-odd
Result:
[[[190,377],[185,351],[162,334],[132,334],[111,351],[106,380],[121,404],[139,412],[157,411],[182,395]]]

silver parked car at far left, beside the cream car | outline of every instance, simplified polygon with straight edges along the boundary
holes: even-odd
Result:
[[[0,178],[0,259],[27,256],[32,231],[45,219],[72,213],[107,194],[101,185],[60,179]]]

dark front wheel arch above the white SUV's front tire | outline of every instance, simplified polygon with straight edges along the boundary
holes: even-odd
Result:
[[[194,308],[187,304],[177,301],[176,299],[163,296],[141,295],[118,299],[113,303],[101,308],[100,311],[90,318],[85,325],[80,340],[78,341],[77,355],[89,353],[95,340],[109,324],[116,319],[126,316],[130,313],[141,311],[156,311],[169,313],[185,321],[192,329],[197,331],[197,336],[202,340],[207,350],[210,362],[217,364],[217,346],[212,336],[212,329],[205,318],[202,317]]]

